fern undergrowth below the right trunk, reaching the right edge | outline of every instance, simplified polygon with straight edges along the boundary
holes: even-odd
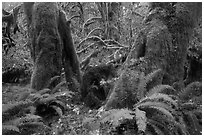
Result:
[[[193,82],[180,94],[172,86],[149,84],[158,71],[140,78],[133,109],[99,109],[84,126],[90,134],[200,135],[202,84]],[[148,84],[149,83],[149,84]],[[147,88],[151,87],[151,88]],[[200,100],[200,101],[199,101]]]

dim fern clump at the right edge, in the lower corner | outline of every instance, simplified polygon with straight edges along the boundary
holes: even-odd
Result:
[[[192,82],[179,93],[180,121],[185,123],[188,134],[202,134],[202,83]]]

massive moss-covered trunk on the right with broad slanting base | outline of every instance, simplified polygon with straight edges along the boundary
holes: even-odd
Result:
[[[124,70],[108,97],[106,109],[131,108],[138,101],[141,77],[158,69],[162,72],[152,80],[151,87],[162,83],[183,85],[187,46],[201,17],[202,3],[168,4],[154,3],[151,7],[144,29],[138,34]]]

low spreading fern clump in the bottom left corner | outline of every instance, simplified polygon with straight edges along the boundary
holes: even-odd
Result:
[[[42,118],[34,114],[35,108],[30,100],[14,104],[2,105],[2,134],[18,135],[33,134],[39,129],[48,129],[41,121]]]

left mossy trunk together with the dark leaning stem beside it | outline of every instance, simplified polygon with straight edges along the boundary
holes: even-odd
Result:
[[[24,11],[34,61],[31,88],[47,87],[52,77],[61,74],[63,61],[69,89],[77,89],[75,81],[81,82],[79,62],[65,13],[52,2],[24,3]]]

